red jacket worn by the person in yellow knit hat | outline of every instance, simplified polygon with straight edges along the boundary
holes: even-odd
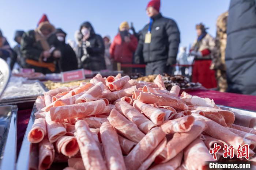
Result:
[[[130,35],[131,42],[122,42],[121,35],[118,33],[110,45],[110,58],[121,63],[132,63],[133,53],[135,52],[138,40],[134,35]]]

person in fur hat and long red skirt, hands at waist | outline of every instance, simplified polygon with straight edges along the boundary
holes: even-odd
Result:
[[[190,50],[190,54],[195,56],[194,66],[192,71],[192,81],[200,82],[206,88],[217,87],[215,79],[215,71],[210,70],[212,55],[215,41],[210,34],[206,32],[202,23],[196,25],[198,38]]]

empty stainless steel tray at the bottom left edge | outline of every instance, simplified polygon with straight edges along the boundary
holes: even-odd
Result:
[[[15,105],[0,106],[0,169],[14,170],[16,162],[17,111]]]

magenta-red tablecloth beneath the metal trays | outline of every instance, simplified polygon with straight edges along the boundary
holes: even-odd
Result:
[[[256,96],[235,93],[221,93],[214,90],[193,90],[188,93],[199,97],[211,98],[215,101],[215,104],[256,111]],[[17,153],[20,150],[31,111],[32,109],[18,111]]]

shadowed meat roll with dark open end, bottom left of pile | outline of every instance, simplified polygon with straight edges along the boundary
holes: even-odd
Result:
[[[47,138],[39,143],[38,170],[49,169],[54,160],[54,147]]]

